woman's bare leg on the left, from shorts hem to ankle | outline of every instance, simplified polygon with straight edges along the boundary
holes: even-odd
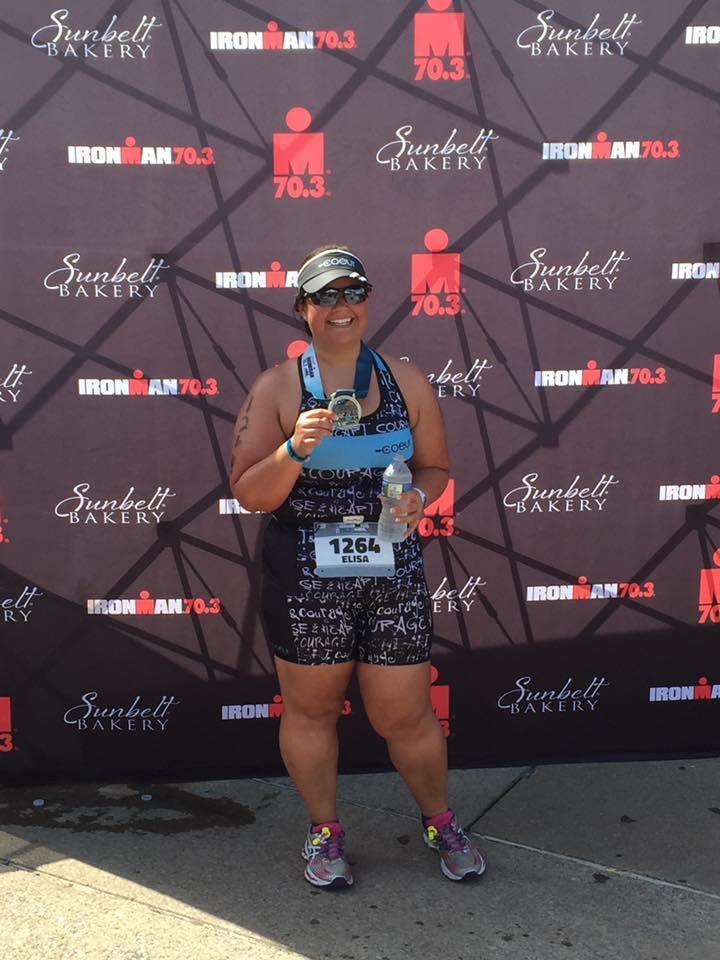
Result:
[[[313,823],[337,819],[337,720],[353,666],[275,658],[283,698],[280,753]]]

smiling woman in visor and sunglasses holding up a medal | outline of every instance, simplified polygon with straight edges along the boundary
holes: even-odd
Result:
[[[443,873],[462,880],[485,868],[448,808],[445,737],[430,703],[431,605],[415,531],[447,483],[445,431],[420,370],[364,346],[371,289],[345,246],[306,257],[295,308],[312,344],[258,377],[233,441],[234,496],[273,514],[262,609],[283,698],[280,750],[311,820],[305,878],[318,887],[353,882],[336,787],[337,720],[355,667]],[[405,538],[382,547],[364,524],[378,519],[383,470],[398,450],[415,486],[395,511]],[[347,544],[362,567],[343,566]]]

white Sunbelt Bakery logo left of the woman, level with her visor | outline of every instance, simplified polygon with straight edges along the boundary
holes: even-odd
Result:
[[[123,257],[112,270],[93,270],[81,264],[81,255],[68,253],[62,266],[51,270],[43,280],[43,286],[60,299],[153,299],[162,282],[163,271],[170,264],[163,257],[151,257],[142,269],[128,267],[128,258]]]

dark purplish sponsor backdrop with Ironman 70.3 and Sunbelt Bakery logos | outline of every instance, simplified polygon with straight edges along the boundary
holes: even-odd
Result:
[[[282,769],[229,446],[326,242],[447,422],[451,762],[717,751],[718,0],[6,0],[0,55],[0,779]]]

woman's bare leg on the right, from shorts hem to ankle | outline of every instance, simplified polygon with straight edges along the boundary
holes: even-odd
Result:
[[[447,810],[447,748],[430,702],[430,663],[359,663],[358,680],[370,723],[421,812]]]

